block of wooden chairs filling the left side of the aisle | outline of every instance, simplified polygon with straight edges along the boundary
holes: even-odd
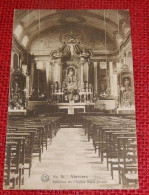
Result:
[[[24,172],[31,175],[34,157],[41,161],[44,149],[56,136],[59,117],[32,117],[9,119],[5,148],[4,188],[20,189],[24,185]]]

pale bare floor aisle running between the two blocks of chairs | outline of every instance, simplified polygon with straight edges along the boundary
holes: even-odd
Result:
[[[47,180],[44,177],[43,181],[44,174],[47,175]],[[91,184],[93,180],[90,178],[98,182]],[[72,183],[65,183],[66,180]],[[115,176],[112,180],[106,164],[100,163],[92,141],[88,142],[82,128],[61,128],[47,151],[42,154],[41,163],[38,159],[33,160],[31,177],[26,176],[25,185],[22,187],[22,189],[66,188],[121,188],[121,185],[118,185],[118,177]]]

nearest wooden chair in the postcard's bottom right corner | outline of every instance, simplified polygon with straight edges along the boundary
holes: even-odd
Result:
[[[118,137],[119,183],[128,187],[131,183],[138,184],[137,143],[136,137]],[[127,163],[131,159],[131,164]],[[122,160],[122,161],[121,161]]]

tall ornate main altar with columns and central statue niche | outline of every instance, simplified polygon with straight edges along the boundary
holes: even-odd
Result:
[[[93,103],[93,85],[89,83],[89,59],[92,51],[82,48],[78,35],[69,32],[63,36],[61,48],[50,53],[53,80],[50,82],[49,99],[59,109],[74,114],[75,109],[86,110]]]

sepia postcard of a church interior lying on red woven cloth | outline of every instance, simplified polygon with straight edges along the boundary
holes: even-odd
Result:
[[[136,142],[129,11],[15,10],[4,188],[137,188]]]

